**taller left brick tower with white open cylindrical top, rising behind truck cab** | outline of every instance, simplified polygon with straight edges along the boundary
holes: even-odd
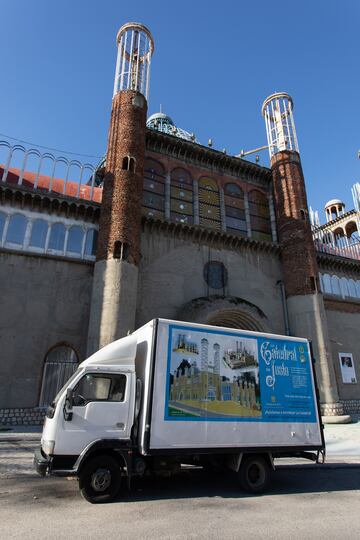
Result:
[[[154,42],[138,23],[117,35],[88,353],[134,329],[150,62]]]

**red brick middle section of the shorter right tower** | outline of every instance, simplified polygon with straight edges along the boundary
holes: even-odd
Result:
[[[278,152],[271,159],[271,169],[286,293],[314,294],[318,266],[299,154]]]

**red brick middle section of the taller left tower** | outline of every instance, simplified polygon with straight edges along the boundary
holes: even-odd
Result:
[[[114,96],[97,260],[139,262],[146,112],[141,94],[127,90]]]

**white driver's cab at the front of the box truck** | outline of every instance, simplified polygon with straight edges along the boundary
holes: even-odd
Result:
[[[136,396],[140,398],[136,348],[134,336],[111,343],[85,360],[60,390],[46,411],[41,447],[35,454],[41,475],[78,475],[87,456],[105,453],[111,458],[114,448],[128,454]],[[92,482],[94,494],[88,489],[86,498],[97,502],[107,491],[104,470]]]

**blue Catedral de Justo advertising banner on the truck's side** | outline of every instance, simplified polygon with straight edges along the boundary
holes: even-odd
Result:
[[[304,340],[169,325],[165,421],[316,422]]]

